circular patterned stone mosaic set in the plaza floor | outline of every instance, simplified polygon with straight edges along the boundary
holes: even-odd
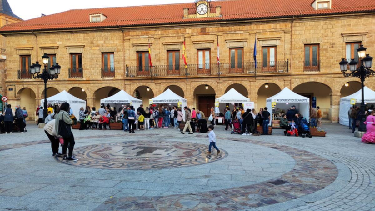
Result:
[[[225,150],[211,150],[207,145],[189,142],[132,141],[101,143],[74,149],[76,162],[58,161],[74,166],[100,169],[165,169],[194,166],[220,160],[228,155]]]

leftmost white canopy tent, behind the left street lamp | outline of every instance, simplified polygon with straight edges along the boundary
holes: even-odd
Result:
[[[71,95],[65,90],[47,98],[47,104],[62,104],[63,102],[69,103],[71,109],[73,110],[73,114],[77,119],[80,116],[80,108],[83,107],[84,109],[86,109],[86,101]],[[40,100],[40,105],[44,105],[44,99]]]

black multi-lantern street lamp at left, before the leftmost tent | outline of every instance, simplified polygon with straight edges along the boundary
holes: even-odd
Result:
[[[61,66],[56,63],[56,65],[52,66],[47,70],[47,64],[48,64],[48,56],[45,53],[42,56],[43,64],[44,64],[44,70],[42,73],[40,73],[40,67],[42,65],[39,64],[39,62],[36,62],[35,64],[30,66],[30,72],[33,75],[33,78],[40,78],[44,81],[44,105],[43,105],[43,122],[44,119],[47,117],[47,81],[53,80],[58,78],[58,74],[60,74]],[[39,74],[40,73],[40,74]]]

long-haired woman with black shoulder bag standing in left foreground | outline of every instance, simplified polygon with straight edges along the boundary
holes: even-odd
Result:
[[[82,108],[83,110],[83,108]],[[60,124],[67,124],[68,127],[71,127],[73,124],[73,120],[69,117],[69,103],[64,102],[60,106],[60,112],[55,115],[55,129],[56,129],[56,136],[59,138],[62,138],[60,131],[59,131],[59,125]],[[66,156],[66,149],[68,148],[69,145],[69,154]],[[77,161],[78,159],[73,157],[73,149],[74,149],[74,136],[73,133],[71,134],[70,137],[64,137],[64,145],[63,145],[63,160],[67,161]]]

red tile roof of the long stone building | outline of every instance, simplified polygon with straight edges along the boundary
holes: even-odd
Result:
[[[194,3],[75,9],[6,25],[1,32],[58,30],[98,27],[156,25],[219,20],[298,17],[375,11],[375,0],[332,0],[332,9],[315,10],[311,0],[223,0],[212,1],[211,12],[221,6],[222,17],[183,19],[183,8],[195,14]],[[90,14],[105,14],[102,22],[90,23]]]

